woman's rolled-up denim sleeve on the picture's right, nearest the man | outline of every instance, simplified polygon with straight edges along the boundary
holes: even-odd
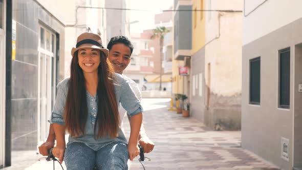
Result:
[[[127,80],[123,81],[121,85],[121,96],[120,102],[123,108],[127,111],[130,116],[139,114],[143,112],[143,108],[139,99],[134,94],[129,82]]]

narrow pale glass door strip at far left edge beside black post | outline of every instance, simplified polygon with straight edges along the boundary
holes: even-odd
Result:
[[[5,1],[0,0],[0,168],[5,155]]]

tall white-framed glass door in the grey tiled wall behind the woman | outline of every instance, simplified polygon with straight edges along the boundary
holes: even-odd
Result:
[[[55,36],[39,27],[38,73],[38,145],[45,142],[49,132],[51,111],[55,100]]]

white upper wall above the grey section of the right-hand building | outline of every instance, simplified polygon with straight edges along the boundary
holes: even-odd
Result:
[[[245,2],[244,13],[247,16],[243,18],[243,45],[301,17],[300,0],[245,0]],[[255,9],[262,3],[264,4]],[[255,11],[251,12],[253,9]]]

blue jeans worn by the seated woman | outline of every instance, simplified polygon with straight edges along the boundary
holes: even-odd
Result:
[[[66,148],[64,161],[68,170],[90,170],[95,165],[98,169],[127,170],[128,149],[122,142],[112,142],[98,151],[84,143],[72,142]]]

